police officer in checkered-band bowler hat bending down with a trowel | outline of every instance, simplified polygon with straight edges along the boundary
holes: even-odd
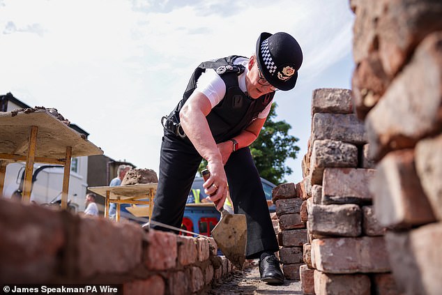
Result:
[[[275,91],[294,88],[302,61],[300,46],[288,33],[261,33],[250,58],[228,56],[201,63],[183,99],[162,118],[165,135],[152,220],[181,227],[192,181],[201,157],[206,159],[211,176],[204,192],[220,209],[229,182],[234,211],[247,220],[246,258],[259,259],[261,280],[270,284],[282,284],[284,275],[248,146],[264,126]]]

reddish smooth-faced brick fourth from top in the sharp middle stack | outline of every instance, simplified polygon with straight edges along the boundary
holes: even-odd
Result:
[[[322,181],[322,204],[371,204],[369,182],[374,169],[326,168]]]

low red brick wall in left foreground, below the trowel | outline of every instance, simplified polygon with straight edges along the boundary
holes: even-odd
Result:
[[[121,294],[205,294],[232,271],[211,238],[145,231],[0,198],[0,282],[111,284]]]

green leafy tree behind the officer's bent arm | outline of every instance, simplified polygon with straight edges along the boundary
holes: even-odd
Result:
[[[274,121],[276,107],[277,104],[273,103],[259,137],[250,145],[250,151],[259,175],[277,185],[286,182],[284,175],[292,172],[285,161],[287,158],[296,159],[299,152],[296,142],[299,139],[288,134],[291,128],[289,123]],[[202,160],[198,169],[200,175],[206,165],[207,161]]]

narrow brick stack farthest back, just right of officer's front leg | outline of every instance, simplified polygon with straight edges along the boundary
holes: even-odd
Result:
[[[307,242],[307,208],[303,206],[294,183],[284,183],[272,191],[276,207],[275,232],[280,244],[280,261],[287,280],[299,280],[299,268],[303,264],[303,244]]]

